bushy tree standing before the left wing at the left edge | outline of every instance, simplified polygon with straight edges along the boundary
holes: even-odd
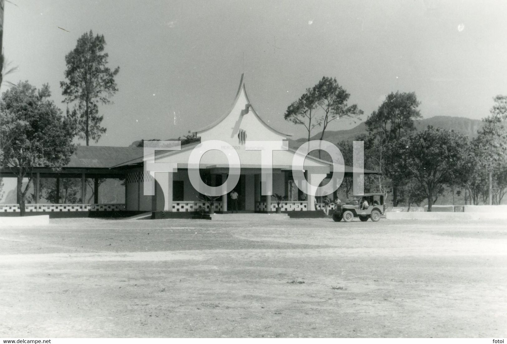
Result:
[[[21,216],[25,213],[25,196],[33,168],[45,166],[58,171],[67,164],[75,150],[72,140],[76,124],[62,116],[62,111],[49,100],[46,84],[40,90],[27,81],[19,82],[2,95],[0,136],[2,164],[17,176],[17,198]],[[23,178],[28,183],[23,187]]]

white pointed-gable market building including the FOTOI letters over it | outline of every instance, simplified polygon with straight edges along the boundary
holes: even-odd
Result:
[[[329,142],[314,141],[298,150],[288,147],[287,139],[292,135],[261,119],[248,99],[243,75],[230,111],[193,132],[200,142],[180,145],[178,141],[144,141],[144,148],[78,146],[61,171],[34,169],[34,196],[26,212],[55,216],[163,212],[165,217],[185,217],[199,207],[212,207],[217,213],[228,213],[232,189],[239,195],[238,208],[243,212],[274,212],[276,202],[270,196],[274,194],[284,197],[282,212],[315,211],[323,208],[316,202],[319,195],[336,198],[335,190],[343,177],[355,176],[354,190],[360,190],[361,176],[377,173],[363,169],[363,156],[356,154],[362,153],[362,142],[354,143],[354,167],[345,166],[339,149]],[[332,161],[307,155],[314,149],[325,149]],[[14,174],[10,168],[3,168],[0,176]],[[57,195],[61,194],[60,180],[79,181],[78,196],[85,202],[42,203],[43,178],[56,180]],[[100,181],[107,179],[122,181],[123,199],[101,202],[100,187],[104,184]],[[92,199],[87,199],[91,194]],[[211,206],[203,195],[221,197]],[[0,214],[16,212],[19,205],[0,204]]]

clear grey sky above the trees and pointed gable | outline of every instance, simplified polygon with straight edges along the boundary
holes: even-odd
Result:
[[[119,91],[99,107],[107,132],[92,145],[205,127],[230,109],[243,72],[259,115],[295,138],[305,129],[283,113],[323,76],[361,120],[396,91],[415,91],[425,118],[481,119],[507,94],[505,14],[505,1],[10,0],[3,49],[18,69],[5,79],[49,83],[64,110],[65,55],[84,32],[103,34]]]

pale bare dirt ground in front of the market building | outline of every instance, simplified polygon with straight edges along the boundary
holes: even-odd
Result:
[[[507,336],[502,221],[0,230],[0,337]]]

